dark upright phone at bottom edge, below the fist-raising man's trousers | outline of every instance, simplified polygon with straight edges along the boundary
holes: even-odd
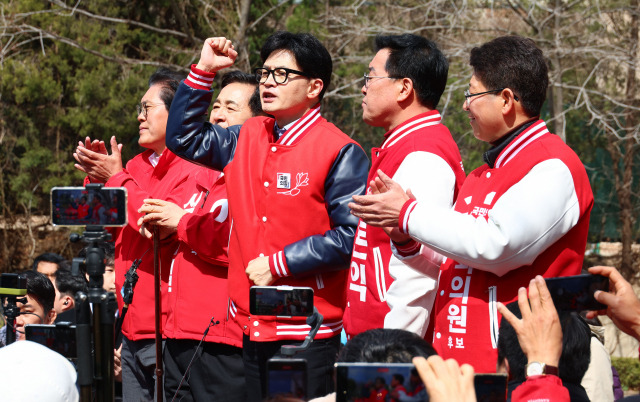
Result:
[[[307,361],[272,358],[267,360],[267,389],[272,398],[307,400]],[[288,400],[288,399],[287,399]]]

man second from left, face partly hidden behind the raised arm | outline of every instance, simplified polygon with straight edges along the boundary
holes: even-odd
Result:
[[[257,88],[252,74],[241,71],[225,74],[211,121],[229,127],[261,115]],[[167,314],[163,352],[165,397],[172,400],[176,396],[183,401],[245,401],[242,331],[227,314],[230,219],[224,174],[202,167],[183,186],[191,193],[185,204],[151,199],[145,200],[140,208],[144,214],[139,222],[141,227],[158,225],[176,233],[180,242],[171,264],[171,285],[163,306]],[[144,235],[151,236],[142,230]],[[216,324],[209,327],[212,319]],[[205,342],[200,344],[207,328]],[[198,359],[191,363],[195,354]]]

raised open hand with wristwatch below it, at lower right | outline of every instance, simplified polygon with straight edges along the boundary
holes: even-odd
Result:
[[[518,289],[518,306],[522,313],[521,320],[502,303],[498,303],[498,311],[516,331],[529,363],[541,362],[558,367],[562,354],[562,327],[542,276],[536,276],[529,283],[529,300],[527,290]]]

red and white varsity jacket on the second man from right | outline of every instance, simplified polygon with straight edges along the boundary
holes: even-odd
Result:
[[[465,175],[458,146],[440,121],[440,113],[434,110],[414,116],[386,133],[382,146],[371,150],[367,183],[377,177],[380,169],[403,189],[411,189],[418,200],[428,198],[450,208]],[[431,275],[405,265],[393,256],[384,230],[361,220],[349,271],[344,315],[347,337],[383,327],[424,336],[438,269],[439,260]]]

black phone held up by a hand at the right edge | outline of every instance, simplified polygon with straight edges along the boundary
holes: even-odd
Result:
[[[606,309],[596,301],[596,290],[609,291],[609,278],[602,275],[575,275],[559,278],[546,278],[551,299],[557,310],[585,311]]]

